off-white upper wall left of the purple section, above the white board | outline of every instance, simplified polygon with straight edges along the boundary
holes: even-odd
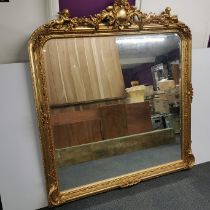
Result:
[[[10,0],[0,3],[0,63],[28,60],[28,39],[48,19],[46,2]]]

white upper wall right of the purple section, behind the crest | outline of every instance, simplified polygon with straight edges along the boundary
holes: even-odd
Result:
[[[186,23],[192,30],[193,48],[206,48],[210,35],[210,1],[209,0],[142,0],[143,12],[159,14],[167,6],[172,14]]]

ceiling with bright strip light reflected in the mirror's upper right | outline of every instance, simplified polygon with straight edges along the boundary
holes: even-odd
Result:
[[[152,34],[116,37],[122,66],[151,63],[180,46],[177,34]]]

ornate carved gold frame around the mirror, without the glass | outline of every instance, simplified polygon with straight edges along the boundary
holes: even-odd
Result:
[[[55,38],[151,33],[177,33],[181,38],[182,159],[61,192],[56,172],[52,128],[49,123],[50,112],[42,54],[44,44]],[[191,103],[193,96],[191,32],[184,23],[178,20],[177,16],[171,15],[170,8],[166,8],[160,15],[145,14],[131,6],[127,0],[116,0],[113,6],[109,6],[101,13],[89,18],[69,18],[69,11],[64,10],[59,13],[57,20],[39,27],[32,34],[28,49],[49,205],[57,206],[99,192],[131,186],[143,180],[193,166],[194,156],[191,151]]]

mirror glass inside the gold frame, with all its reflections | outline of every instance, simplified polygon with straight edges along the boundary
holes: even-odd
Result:
[[[60,190],[181,159],[177,34],[47,41]]]

